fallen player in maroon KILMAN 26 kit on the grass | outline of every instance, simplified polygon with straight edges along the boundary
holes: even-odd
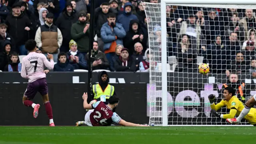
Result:
[[[112,122],[122,126],[147,126],[143,124],[134,124],[126,122],[120,118],[113,110],[118,106],[119,98],[117,96],[110,96],[109,104],[98,101],[93,104],[87,103],[87,93],[82,96],[84,99],[84,109],[90,110],[85,115],[85,124],[88,126],[111,126]],[[94,109],[91,111],[91,109]]]

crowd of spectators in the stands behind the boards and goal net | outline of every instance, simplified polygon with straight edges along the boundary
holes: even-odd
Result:
[[[148,22],[155,21],[146,18],[143,5],[147,10],[144,3],[97,0],[93,70],[149,71],[147,49],[160,42],[161,27],[151,28],[149,39]],[[87,70],[90,8],[90,0],[1,0],[0,70],[21,71],[29,39],[36,40],[38,53],[54,55],[54,71]],[[256,72],[252,9],[166,6],[166,21],[167,55],[177,58],[175,71],[196,72],[201,56],[212,73]]]

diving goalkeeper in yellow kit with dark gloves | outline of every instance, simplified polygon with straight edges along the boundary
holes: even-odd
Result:
[[[236,115],[239,116],[241,111],[244,109],[244,104],[238,100],[236,96],[234,96],[234,89],[230,86],[224,88],[223,92],[223,99],[221,100],[220,103],[214,104],[214,94],[210,94],[208,96],[208,99],[210,100],[210,105],[211,105],[211,114],[213,114],[216,117],[219,118],[234,118]],[[220,108],[226,106],[226,108],[230,109],[229,114],[220,114],[216,112]],[[256,109],[251,108],[250,112],[244,117],[250,124],[256,126]]]

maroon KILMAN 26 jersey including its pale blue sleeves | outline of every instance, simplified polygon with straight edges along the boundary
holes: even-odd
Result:
[[[112,122],[117,124],[122,120],[116,112],[113,112],[112,109],[104,104],[104,102],[95,102],[92,104],[94,111],[90,114],[90,121],[92,126],[110,126]]]

